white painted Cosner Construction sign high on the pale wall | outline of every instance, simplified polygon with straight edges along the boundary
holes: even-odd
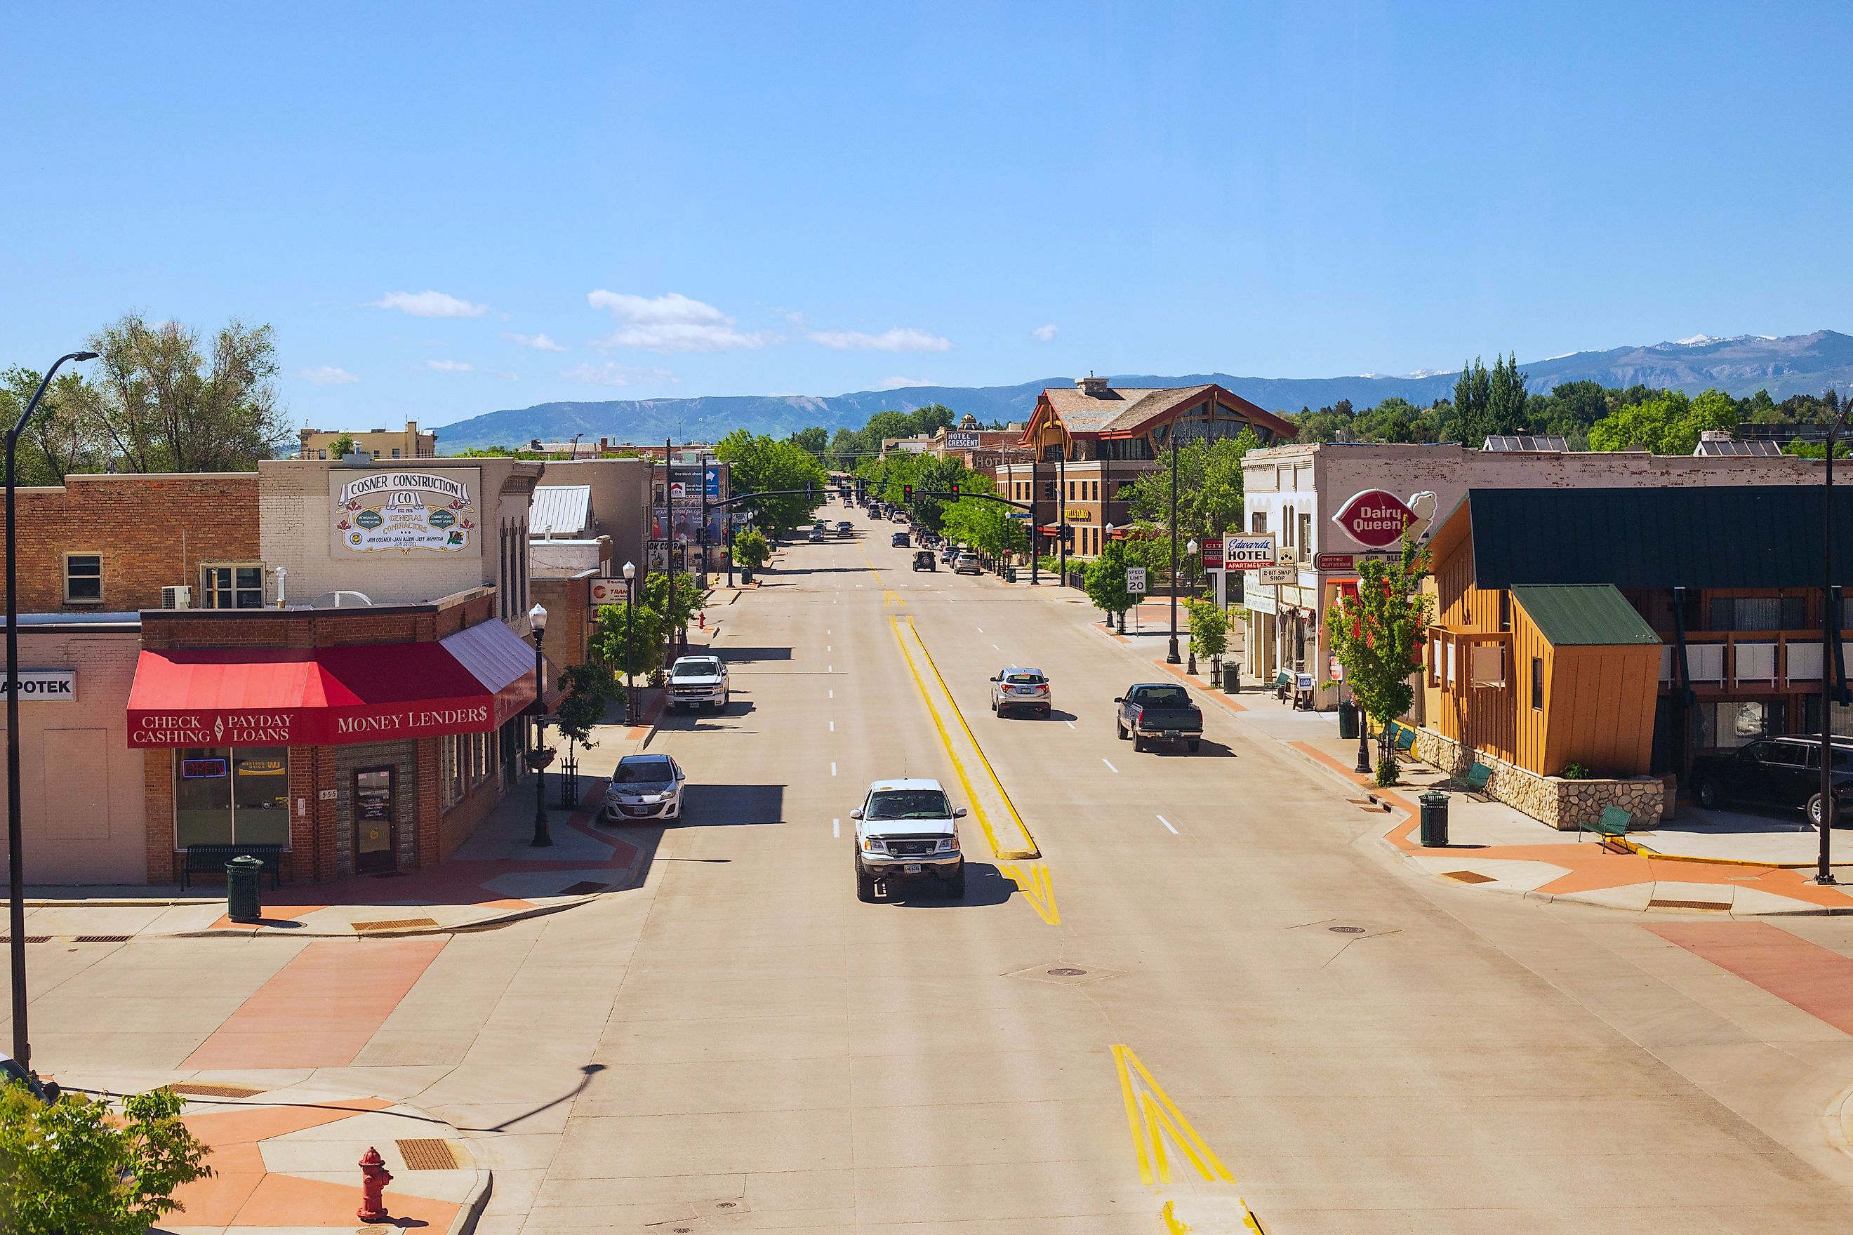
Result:
[[[328,472],[334,552],[480,557],[482,468]]]

